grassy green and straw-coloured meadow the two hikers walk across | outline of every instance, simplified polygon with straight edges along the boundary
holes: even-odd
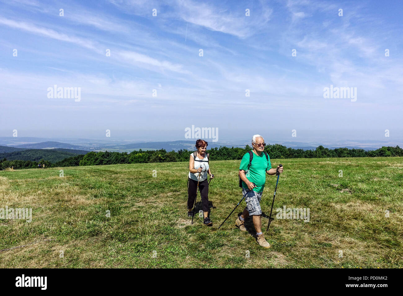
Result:
[[[249,233],[235,228],[245,201],[217,231],[242,197],[239,160],[210,162],[212,228],[198,217],[190,225],[184,162],[1,171],[0,208],[32,208],[33,221],[0,219],[0,249],[36,243],[0,252],[0,267],[403,267],[401,157],[271,161],[285,167],[274,211],[310,208],[310,221],[272,221],[269,249],[250,220]],[[267,176],[266,215],[275,180]]]

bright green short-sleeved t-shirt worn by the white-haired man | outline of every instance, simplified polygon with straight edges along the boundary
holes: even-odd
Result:
[[[253,153],[252,163],[251,166],[249,167],[249,172],[246,172],[249,166],[249,158],[250,158],[249,153],[243,155],[241,164],[239,165],[239,170],[244,170],[246,178],[249,181],[256,184],[256,187],[253,188],[253,191],[262,192],[264,188],[264,183],[266,183],[266,171],[272,168],[272,165],[270,164],[270,156],[268,156],[267,160],[264,152],[262,152],[260,156]],[[242,181],[242,187],[248,188],[248,186],[243,181]]]

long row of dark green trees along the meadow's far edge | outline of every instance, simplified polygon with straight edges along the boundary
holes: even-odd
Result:
[[[245,148],[238,147],[223,147],[208,149],[210,153],[210,160],[234,160],[241,159],[251,147],[246,145]],[[349,148],[336,148],[328,149],[322,145],[315,150],[303,150],[287,148],[280,144],[266,145],[264,151],[270,155],[272,159],[281,158],[330,158],[330,157],[389,157],[389,156],[403,156],[403,149],[399,146],[396,147],[382,147],[376,150],[364,149],[349,149]],[[45,168],[52,167],[65,167],[65,166],[98,166],[107,164],[145,164],[151,162],[177,162],[189,161],[189,155],[194,151],[181,149],[179,151],[167,152],[165,149],[160,150],[146,150],[127,152],[94,152],[91,151],[85,155],[76,155],[73,157],[65,158],[61,161],[51,163],[48,160],[40,159],[39,161],[24,161],[24,160],[7,160],[6,158],[0,159],[0,170],[6,168],[25,169],[25,168]]]

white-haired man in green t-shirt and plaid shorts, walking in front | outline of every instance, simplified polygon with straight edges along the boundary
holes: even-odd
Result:
[[[247,198],[246,207],[242,215],[235,221],[235,225],[240,230],[246,231],[244,220],[248,216],[252,216],[258,244],[264,248],[270,248],[270,244],[265,240],[262,233],[260,200],[266,182],[266,173],[269,175],[275,175],[277,171],[282,173],[283,167],[272,168],[270,157],[264,152],[264,146],[266,146],[266,143],[264,143],[263,137],[254,135],[252,137],[253,150],[242,157],[241,165],[239,166],[239,178],[242,180],[242,194],[247,193]],[[253,186],[252,183],[255,183],[256,186]]]

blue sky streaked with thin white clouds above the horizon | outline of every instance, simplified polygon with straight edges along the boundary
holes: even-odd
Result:
[[[384,140],[385,129],[401,140],[402,7],[0,1],[0,135],[101,138],[109,129],[167,141],[193,124],[218,128],[219,140]],[[48,98],[53,85],[80,87],[80,101]],[[325,99],[330,85],[356,87],[357,100]]]

